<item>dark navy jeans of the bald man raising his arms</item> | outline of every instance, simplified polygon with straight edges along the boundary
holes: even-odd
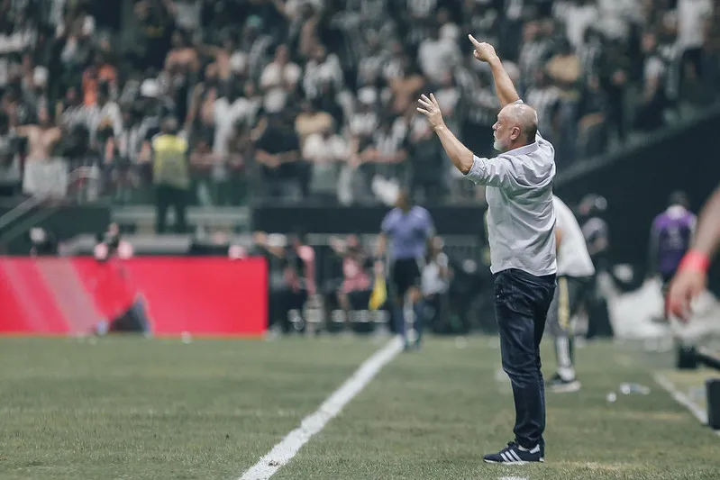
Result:
[[[540,341],[555,293],[555,276],[510,268],[495,274],[495,312],[503,370],[515,397],[515,441],[523,448],[544,444],[545,386]]]

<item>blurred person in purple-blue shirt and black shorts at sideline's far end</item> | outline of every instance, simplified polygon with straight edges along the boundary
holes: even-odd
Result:
[[[389,284],[393,301],[393,322],[396,333],[402,335],[406,349],[405,303],[413,303],[415,312],[415,348],[420,347],[423,335],[423,296],[420,293],[421,268],[428,245],[433,240],[434,226],[430,213],[413,205],[406,190],[397,196],[396,208],[385,215],[378,237],[378,267],[387,253],[389,240]]]

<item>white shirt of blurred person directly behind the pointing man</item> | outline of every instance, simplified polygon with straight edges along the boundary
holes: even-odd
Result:
[[[593,276],[595,267],[588,253],[585,235],[582,234],[578,219],[570,207],[557,196],[552,197],[555,204],[555,215],[558,219],[557,228],[562,231],[562,242],[558,249],[559,276]]]

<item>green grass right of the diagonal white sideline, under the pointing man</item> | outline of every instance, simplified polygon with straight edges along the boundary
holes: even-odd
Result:
[[[551,345],[543,351],[550,376]],[[513,399],[495,379],[499,350],[430,340],[384,369],[343,414],[274,478],[676,480],[720,478],[717,440],[652,383],[647,362],[607,343],[578,351],[577,394],[550,394],[547,463],[509,470],[481,463],[512,439]],[[615,361],[620,355],[624,365]],[[649,395],[606,395],[623,382]]]

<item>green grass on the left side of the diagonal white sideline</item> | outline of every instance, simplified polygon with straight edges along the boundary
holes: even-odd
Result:
[[[236,478],[376,349],[0,340],[0,478]]]

